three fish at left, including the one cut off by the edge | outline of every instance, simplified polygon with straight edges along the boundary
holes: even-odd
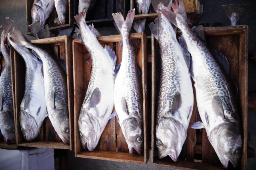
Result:
[[[8,39],[12,48],[22,56],[26,64],[25,94],[20,105],[20,127],[24,139],[34,140],[41,131],[45,117],[48,116],[62,141],[68,144],[70,137],[66,61],[56,59],[46,49],[30,43],[15,28],[11,34],[12,23],[6,18],[1,37],[1,50],[6,64],[0,76],[0,129],[5,141],[7,144],[10,141],[15,142],[10,52],[6,46]]]

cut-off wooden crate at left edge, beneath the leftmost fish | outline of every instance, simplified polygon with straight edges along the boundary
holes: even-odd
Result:
[[[12,60],[12,57],[14,55],[14,51],[11,49],[10,50],[10,58],[11,58],[11,67],[14,67],[14,61]],[[4,61],[4,57],[2,55],[2,52],[0,52],[0,57],[2,58],[2,61],[0,62],[0,70],[2,72],[2,68],[5,64],[5,61]],[[15,89],[13,88],[14,87],[14,72],[13,70],[11,70],[11,74],[12,74],[12,100],[13,100],[13,110],[14,110],[14,127],[15,127],[15,133],[17,135],[17,131],[16,131],[16,117],[15,117],[15,103],[14,103],[14,100],[15,100]],[[1,73],[0,73],[1,75]],[[0,149],[16,149],[18,148],[18,146],[16,145],[16,143],[12,142],[10,145],[7,145],[4,141],[4,136],[2,135],[2,137],[0,137]]]

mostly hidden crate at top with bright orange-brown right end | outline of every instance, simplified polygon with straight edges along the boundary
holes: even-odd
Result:
[[[185,6],[186,6],[186,12],[187,13],[199,13],[200,8],[200,0],[184,0]],[[134,0],[130,0],[130,10],[132,10],[135,7]],[[137,12],[135,13],[137,14]],[[156,18],[158,18],[158,14],[156,14],[156,11],[154,10],[152,4],[150,4],[150,8],[148,11],[148,14],[141,14],[141,15],[135,15],[134,20],[146,18],[146,21],[152,22]]]

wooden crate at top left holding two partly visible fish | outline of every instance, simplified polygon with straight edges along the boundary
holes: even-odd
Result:
[[[27,13],[27,34],[34,36],[28,25],[32,24],[32,18],[31,18],[31,9],[33,5],[34,0],[26,0],[26,13]],[[58,33],[58,29],[71,27],[74,23],[74,10],[73,10],[74,2],[73,0],[68,0],[68,17],[66,17],[66,20],[68,20],[67,24],[65,25],[58,25],[58,23],[54,23],[54,20],[58,18],[58,14],[56,12],[56,8],[54,6],[53,15],[50,15],[49,18],[46,20],[46,24],[48,24],[50,32],[51,33]]]

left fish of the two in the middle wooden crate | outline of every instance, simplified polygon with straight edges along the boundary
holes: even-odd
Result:
[[[94,26],[86,25],[86,11],[75,16],[80,27],[78,37],[92,58],[90,79],[78,119],[79,136],[84,149],[93,151],[108,121],[114,121],[114,68],[116,55],[98,42]]]

